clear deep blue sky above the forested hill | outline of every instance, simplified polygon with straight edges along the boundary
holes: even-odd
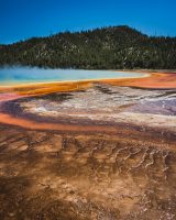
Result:
[[[0,43],[123,24],[176,36],[176,0],[0,0]]]

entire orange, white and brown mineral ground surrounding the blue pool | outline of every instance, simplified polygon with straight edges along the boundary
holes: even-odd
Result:
[[[175,220],[175,143],[174,73],[1,87],[0,219]]]

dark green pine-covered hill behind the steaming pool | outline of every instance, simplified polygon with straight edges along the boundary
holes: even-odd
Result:
[[[82,69],[176,69],[176,37],[154,37],[129,26],[64,32],[0,45],[0,66]]]

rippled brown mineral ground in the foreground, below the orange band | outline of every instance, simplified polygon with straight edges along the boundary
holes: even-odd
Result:
[[[0,219],[176,219],[175,141],[1,124]]]

